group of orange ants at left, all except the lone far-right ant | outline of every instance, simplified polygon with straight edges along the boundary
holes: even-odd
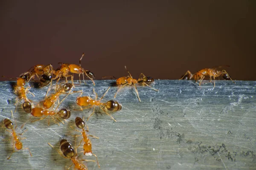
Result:
[[[85,70],[84,68],[81,67],[81,60],[83,57],[84,57],[84,53],[82,54],[79,60],[79,65],[60,63],[61,66],[56,70],[53,69],[51,64],[35,65],[34,67],[30,68],[29,71],[21,74],[19,78],[17,78],[17,83],[14,85],[14,92],[17,95],[15,112],[17,110],[19,103],[22,101],[23,102],[22,108],[25,111],[25,113],[30,113],[32,115],[31,119],[35,118],[31,122],[36,122],[36,121],[40,121],[48,118],[48,126],[50,125],[50,120],[52,120],[55,124],[58,124],[58,125],[60,125],[59,122],[64,124],[62,120],[66,121],[66,119],[69,119],[71,116],[71,111],[67,108],[62,108],[58,110],[58,107],[60,106],[61,102],[63,102],[67,98],[68,95],[74,94],[74,93],[80,93],[80,95],[76,99],[76,103],[80,108],[79,110],[83,111],[84,109],[87,109],[87,108],[93,108],[93,111],[90,114],[90,116],[88,116],[87,121],[91,116],[93,116],[93,114],[95,113],[95,108],[96,106],[98,106],[104,113],[110,116],[114,122],[116,122],[116,119],[114,119],[113,116],[111,116],[111,113],[109,113],[109,111],[111,112],[120,111],[122,109],[122,105],[115,100],[109,100],[108,102],[101,102],[103,97],[107,94],[107,92],[111,87],[109,87],[105,91],[105,93],[99,100],[98,100],[98,94],[95,92],[94,88],[93,88],[93,93],[95,94],[95,99],[92,99],[90,96],[82,96],[83,94],[82,91],[72,90],[73,88],[75,88],[72,74],[79,75],[80,84],[81,84],[80,75],[82,74],[83,81],[84,81],[84,74],[85,74],[85,76],[93,82],[93,85],[95,85],[95,82],[93,81],[93,79],[95,78],[95,75],[93,74],[93,72]],[[125,86],[132,85],[135,88],[138,100],[141,102],[139,92],[137,90],[137,85],[146,85],[151,89],[153,89],[154,91],[158,91],[157,89],[150,86],[150,84],[154,82],[154,79],[152,77],[146,77],[144,74],[140,74],[139,79],[134,79],[131,76],[130,72],[127,70],[126,66],[125,66],[125,69],[128,72],[128,76],[120,77],[118,79],[111,76],[116,79],[116,84],[119,85],[119,88],[116,91],[116,94]],[[72,83],[68,82],[68,78],[71,78]],[[103,78],[106,78],[106,77],[103,77]],[[66,81],[59,83],[61,79],[65,79]],[[56,86],[53,88],[54,92],[48,95],[48,93],[52,89],[53,80],[56,80]],[[32,96],[35,96],[32,92],[29,91],[29,89],[31,88],[30,86],[31,82],[37,83],[39,88],[43,88],[49,85],[49,88],[46,92],[44,100],[38,103],[35,103],[27,97],[28,93],[32,94]],[[84,84],[86,84],[85,81],[84,81]],[[116,98],[116,94],[114,95],[114,98]],[[59,99],[61,95],[65,95],[65,96],[60,102]],[[55,103],[57,101],[58,101],[58,105],[55,107]],[[7,159],[10,159],[12,154],[17,152],[18,150],[29,150],[28,147],[23,148],[23,144],[21,140],[25,138],[20,137],[26,130],[23,133],[19,134],[19,133],[16,133],[15,131],[17,128],[17,125],[14,127],[10,119],[4,119],[3,123],[7,128],[7,131],[9,131],[12,134],[11,137],[13,142],[13,151]],[[85,124],[84,120],[81,119],[80,117],[76,117],[75,124],[76,124],[76,127],[81,129],[81,130],[74,129],[75,131],[78,131],[81,133],[81,135],[74,135],[75,141],[78,136],[82,136],[82,139],[79,145],[73,147],[72,144],[68,142],[66,139],[62,139],[60,142],[61,152],[58,150],[58,153],[64,158],[71,159],[73,163],[70,165],[70,167],[74,164],[75,169],[77,170],[87,170],[87,167],[84,164],[79,163],[79,161],[94,161],[94,160],[86,160],[86,159],[78,160],[77,159],[77,157],[79,156],[77,152],[77,148],[81,145],[82,142],[84,142],[84,145],[83,145],[84,151],[82,152],[84,153],[85,156],[92,156],[92,155],[95,156],[97,164],[100,167],[97,156],[92,152],[92,144],[88,136],[97,138],[97,139],[99,138],[96,136],[87,134],[87,132],[89,131],[88,126]],[[24,125],[25,124],[23,124],[21,128]],[[87,126],[87,129],[84,128],[85,125]],[[73,127],[71,126],[71,128]],[[49,145],[53,148],[51,144]],[[29,154],[30,156],[32,156],[32,153],[30,152],[30,150],[29,150]]]

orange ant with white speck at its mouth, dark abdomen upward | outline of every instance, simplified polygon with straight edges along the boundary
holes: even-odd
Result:
[[[93,135],[87,135],[86,134],[86,132],[89,132],[89,127],[86,125],[87,130],[84,129],[85,123],[84,123],[83,119],[81,119],[80,117],[76,117],[75,122],[76,122],[76,127],[81,129],[81,131],[74,129],[74,130],[81,133],[81,135],[75,135],[75,137],[77,137],[77,136],[82,136],[83,137],[83,139],[81,139],[78,147],[81,145],[82,141],[84,141],[84,146],[83,146],[84,155],[86,155],[86,156],[92,156],[92,155],[95,156],[96,160],[97,160],[97,164],[99,166],[98,158],[92,151],[92,143],[91,143],[90,139],[88,138],[88,136],[91,136],[91,137],[96,138],[96,139],[99,139],[99,138],[96,137],[96,136],[93,136]],[[78,147],[76,147],[76,148],[78,148]],[[99,168],[100,168],[100,166],[99,166]]]

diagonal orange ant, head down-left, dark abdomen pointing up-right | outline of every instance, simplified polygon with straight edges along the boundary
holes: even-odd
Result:
[[[52,94],[51,96],[49,96],[49,97],[47,97],[44,101],[43,101],[43,105],[44,105],[44,108],[45,109],[49,109],[49,108],[51,108],[52,107],[52,105],[56,102],[56,100],[57,99],[59,99],[59,96],[61,95],[61,94],[66,94],[66,92],[69,92],[70,93],[70,90],[71,90],[71,88],[72,88],[72,84],[70,84],[70,83],[66,83],[66,84],[64,84],[61,88],[59,88],[59,89],[57,89],[57,92],[55,93],[55,94]],[[47,91],[47,94],[48,94],[48,92],[49,92],[49,90]],[[68,93],[68,94],[69,94]],[[47,95],[46,94],[46,95]],[[67,95],[68,95],[67,94]],[[67,97],[67,95],[66,95],[66,97]],[[66,98],[65,97],[65,98]],[[64,99],[65,99],[64,98]],[[64,100],[64,99],[62,99],[62,101]],[[61,101],[61,102],[62,102]]]

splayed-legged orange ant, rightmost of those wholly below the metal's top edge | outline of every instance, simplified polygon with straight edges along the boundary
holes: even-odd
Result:
[[[110,89],[110,87],[108,87],[108,90],[109,89]],[[76,103],[77,103],[77,105],[80,106],[81,111],[83,111],[82,106],[87,107],[87,108],[93,108],[93,112],[90,114],[90,116],[93,116],[96,106],[99,106],[102,109],[102,111],[104,111],[108,116],[111,117],[111,119],[113,119],[113,121],[116,122],[116,120],[113,118],[113,116],[111,116],[107,111],[105,111],[105,108],[108,111],[116,112],[116,111],[120,111],[122,109],[122,105],[119,102],[113,101],[113,100],[109,100],[108,102],[105,102],[105,103],[100,102],[103,99],[103,97],[107,94],[108,90],[105,92],[105,94],[103,94],[103,96],[99,100],[97,100],[98,94],[94,91],[94,89],[93,89],[93,93],[96,94],[95,100],[93,100],[90,96],[81,97],[81,95],[83,94],[81,92],[80,96],[77,97],[77,99],[76,99]],[[105,106],[105,108],[103,108],[104,106]],[[89,120],[90,116],[87,118],[87,121]]]

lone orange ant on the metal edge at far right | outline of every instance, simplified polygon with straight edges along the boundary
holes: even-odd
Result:
[[[213,77],[213,82],[214,82],[214,87],[215,87],[215,77],[219,77],[221,75],[225,74],[226,75],[226,79],[228,79],[228,77],[231,79],[231,77],[229,76],[229,74],[227,73],[226,70],[222,70],[222,71],[218,71],[216,68],[204,68],[200,71],[197,71],[195,74],[192,74],[189,70],[186,71],[186,73],[183,75],[183,77],[181,77],[180,79],[183,79],[184,77],[188,76],[189,79],[195,79],[196,82],[199,81],[199,86],[201,86],[201,82],[203,81],[205,76],[209,76],[210,77],[210,82],[212,82],[212,77]],[[180,80],[179,79],[179,80]],[[233,80],[232,80],[233,81]],[[234,81],[233,81],[234,82]],[[235,83],[235,82],[234,82]]]

